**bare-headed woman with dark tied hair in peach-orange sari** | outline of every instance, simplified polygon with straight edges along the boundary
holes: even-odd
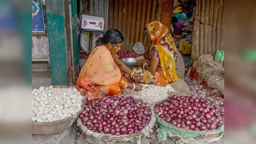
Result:
[[[120,31],[115,29],[106,31],[103,37],[96,41],[98,46],[93,49],[79,73],[79,77],[89,77],[97,85],[97,89],[105,95],[119,95],[123,88],[141,90],[140,85],[127,83],[123,75],[123,71],[128,73],[136,82],[142,79],[140,75],[134,74],[116,55],[123,40]]]

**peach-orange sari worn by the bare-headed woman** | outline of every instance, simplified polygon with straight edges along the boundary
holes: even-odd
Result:
[[[126,78],[105,46],[94,48],[79,73],[82,76],[89,77],[105,95],[122,94],[122,89],[127,87]]]

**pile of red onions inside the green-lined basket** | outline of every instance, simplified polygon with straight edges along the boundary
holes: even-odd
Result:
[[[196,96],[169,96],[156,103],[155,112],[166,122],[185,129],[214,130],[224,122],[224,112],[218,105]]]

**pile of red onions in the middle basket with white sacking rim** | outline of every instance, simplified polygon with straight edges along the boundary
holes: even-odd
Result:
[[[133,134],[151,120],[148,103],[133,97],[104,97],[85,105],[79,114],[82,124],[101,134]]]

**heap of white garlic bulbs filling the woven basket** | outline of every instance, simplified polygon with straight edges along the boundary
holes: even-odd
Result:
[[[41,86],[32,90],[32,122],[51,122],[75,117],[84,97],[76,88]]]

